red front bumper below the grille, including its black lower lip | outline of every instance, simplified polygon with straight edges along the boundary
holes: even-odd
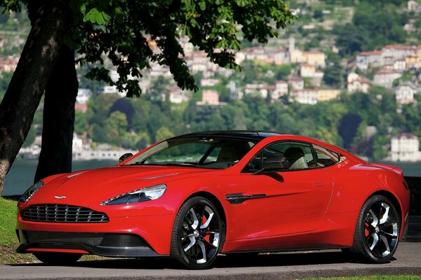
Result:
[[[174,218],[173,215],[110,216],[107,223],[46,223],[23,221],[18,215],[16,232],[20,246],[16,251],[79,252],[112,257],[169,255]]]

